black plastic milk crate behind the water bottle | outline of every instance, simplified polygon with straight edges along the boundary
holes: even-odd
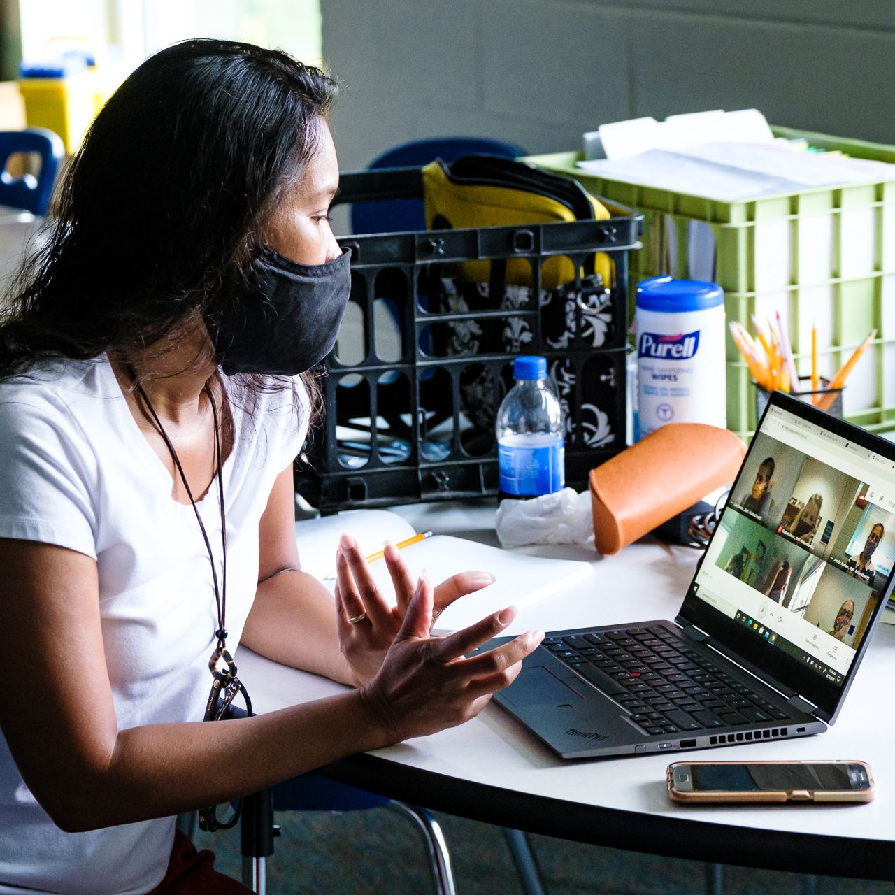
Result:
[[[418,168],[392,169],[342,175],[337,201],[421,196]],[[352,251],[351,299],[321,383],[325,417],[296,472],[303,497],[328,514],[496,496],[494,421],[518,354],[547,358],[567,420],[566,480],[586,487],[626,443],[628,252],[642,218],[611,210],[604,221],[339,239]],[[546,259],[565,255],[586,273],[594,251],[613,260],[611,284],[576,274],[541,294]],[[506,262],[520,258],[531,284],[506,286]],[[489,262],[487,284],[456,276],[470,260]]]

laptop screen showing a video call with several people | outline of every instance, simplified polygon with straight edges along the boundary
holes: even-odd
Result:
[[[831,715],[891,590],[892,456],[881,439],[776,397],[682,610]]]

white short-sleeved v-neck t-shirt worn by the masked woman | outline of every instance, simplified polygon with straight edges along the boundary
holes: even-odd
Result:
[[[258,581],[258,526],[277,474],[302,445],[291,391],[262,392],[234,417],[224,463],[227,646]],[[119,729],[201,720],[217,613],[208,553],[189,504],[146,440],[105,356],[40,364],[0,384],[0,537],[95,558],[103,645]],[[220,575],[217,482],[198,504]],[[16,632],[4,631],[4,640]],[[77,667],[74,662],[72,668]],[[244,682],[251,694],[251,680]],[[38,693],[33,694],[39,699]],[[47,730],[47,737],[53,731]],[[66,833],[38,805],[0,737],[0,892],[143,893],[166,872],[175,818]]]

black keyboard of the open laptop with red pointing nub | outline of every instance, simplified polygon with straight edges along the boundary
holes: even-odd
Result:
[[[541,645],[651,735],[790,717],[666,627],[548,637]]]

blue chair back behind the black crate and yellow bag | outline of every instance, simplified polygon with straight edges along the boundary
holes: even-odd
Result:
[[[414,140],[388,149],[374,158],[368,168],[415,167],[428,165],[436,158],[452,162],[460,156],[482,153],[503,158],[526,155],[521,146],[488,137],[433,137]],[[352,206],[351,229],[354,234],[404,233],[425,230],[426,216],[420,199],[393,199],[363,202]]]

